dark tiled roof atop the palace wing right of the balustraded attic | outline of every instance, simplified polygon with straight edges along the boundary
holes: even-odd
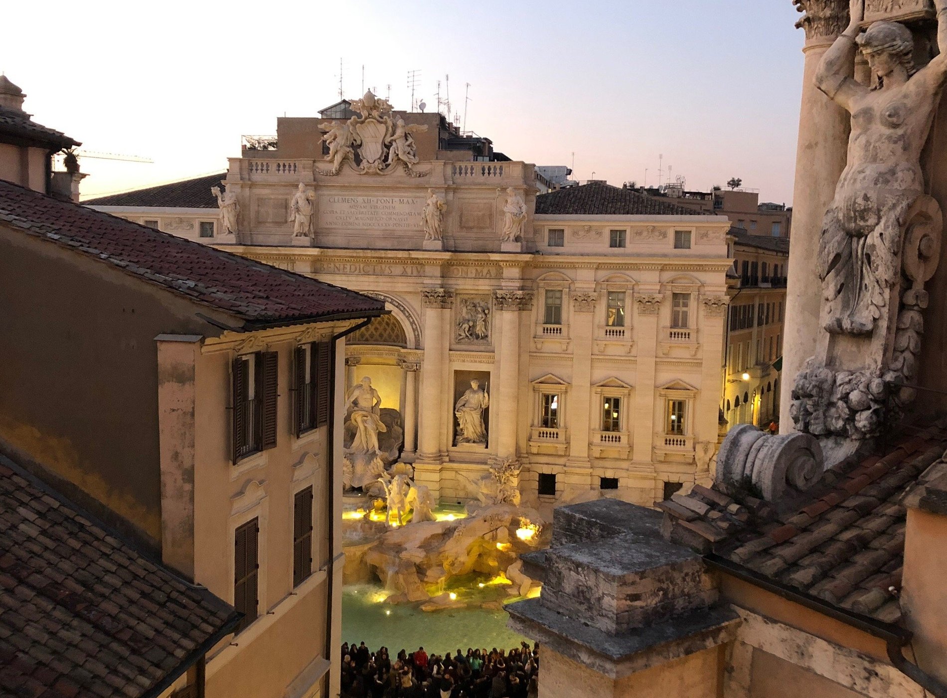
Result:
[[[631,189],[592,182],[540,194],[536,213],[573,216],[712,216]]]

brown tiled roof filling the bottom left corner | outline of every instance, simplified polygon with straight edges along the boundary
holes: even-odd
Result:
[[[0,462],[0,694],[157,695],[239,619]]]

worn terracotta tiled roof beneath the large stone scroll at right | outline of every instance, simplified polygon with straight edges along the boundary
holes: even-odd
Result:
[[[884,456],[843,461],[787,512],[721,483],[656,506],[682,542],[703,541],[705,549],[798,592],[894,623],[901,607],[889,589],[901,589],[902,499],[944,456],[945,427],[926,429]]]

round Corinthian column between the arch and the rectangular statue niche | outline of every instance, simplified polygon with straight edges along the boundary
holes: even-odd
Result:
[[[444,390],[442,374],[444,354],[447,348],[441,346],[440,337],[443,328],[450,322],[450,309],[454,304],[454,292],[450,289],[423,289],[420,292],[421,305],[424,308],[424,360],[421,364],[421,391],[418,424],[418,459],[416,464],[440,468],[440,432],[441,394]],[[417,472],[416,472],[417,474]],[[420,474],[418,475],[420,477]],[[440,489],[438,482],[428,485],[435,496]],[[437,490],[436,490],[437,488]]]

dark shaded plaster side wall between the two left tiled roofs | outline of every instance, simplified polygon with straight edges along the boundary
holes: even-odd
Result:
[[[0,277],[0,439],[157,546],[154,337],[205,332],[209,311],[2,226]]]

